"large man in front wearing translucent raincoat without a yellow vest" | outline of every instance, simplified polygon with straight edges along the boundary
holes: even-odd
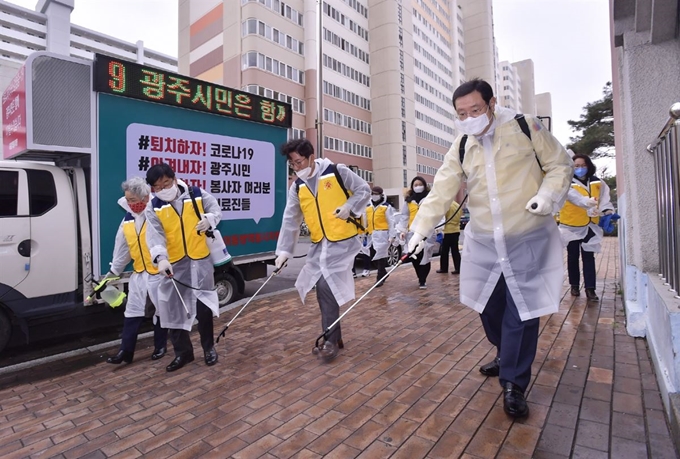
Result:
[[[524,392],[536,355],[539,317],[558,310],[564,266],[559,230],[552,218],[573,175],[566,150],[527,117],[496,105],[491,86],[479,79],[453,93],[455,126],[466,134],[461,164],[458,136],[437,172],[432,191],[411,225],[409,252],[440,221],[467,179],[470,223],[465,228],[461,302],[481,315],[497,358],[480,368],[499,376],[505,412],[524,417]],[[527,133],[523,129],[527,129]]]

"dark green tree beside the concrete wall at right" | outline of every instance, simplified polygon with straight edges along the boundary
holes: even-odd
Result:
[[[583,107],[578,121],[569,120],[571,130],[578,134],[571,137],[567,148],[592,158],[614,156],[614,108],[612,83],[607,82],[602,91],[604,97]]]

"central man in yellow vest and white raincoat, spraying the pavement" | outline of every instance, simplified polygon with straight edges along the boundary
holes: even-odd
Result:
[[[321,327],[325,331],[340,316],[340,305],[354,299],[352,265],[361,242],[356,237],[356,220],[366,208],[371,189],[343,164],[327,158],[314,158],[314,147],[306,139],[295,139],[281,147],[298,179],[288,190],[283,212],[275,264],[282,267],[293,256],[300,224],[304,218],[312,246],[305,266],[295,282],[302,303],[316,285],[321,309]],[[333,360],[343,348],[340,324],[329,333],[320,356]]]

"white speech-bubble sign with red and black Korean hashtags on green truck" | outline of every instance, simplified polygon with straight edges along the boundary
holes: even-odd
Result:
[[[146,175],[164,162],[177,178],[217,198],[222,220],[274,215],[272,143],[148,124],[131,124],[126,135],[128,177]]]

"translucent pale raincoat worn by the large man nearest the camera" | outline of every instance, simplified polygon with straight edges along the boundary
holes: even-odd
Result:
[[[503,274],[521,319],[528,320],[557,312],[564,265],[552,215],[534,215],[525,206],[540,194],[559,211],[574,174],[573,162],[539,120],[526,117],[529,140],[512,110],[496,106],[494,115],[487,134],[467,139],[462,165],[460,137],[454,141],[411,230],[429,234],[467,177],[470,223],[465,227],[461,302],[482,312]]]

